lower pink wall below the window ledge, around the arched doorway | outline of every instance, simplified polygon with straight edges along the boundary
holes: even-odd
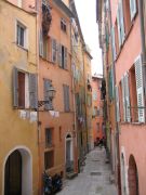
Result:
[[[127,166],[132,154],[135,158],[140,194],[146,194],[146,126],[145,125],[121,125],[120,146],[124,146]]]

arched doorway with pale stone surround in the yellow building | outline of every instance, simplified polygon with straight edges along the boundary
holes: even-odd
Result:
[[[29,148],[10,151],[3,164],[2,195],[32,194],[32,156]]]

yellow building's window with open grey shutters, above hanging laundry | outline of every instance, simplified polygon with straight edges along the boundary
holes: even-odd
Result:
[[[37,75],[13,69],[13,106],[37,108]]]

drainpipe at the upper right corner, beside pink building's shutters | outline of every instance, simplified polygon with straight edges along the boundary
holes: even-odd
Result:
[[[143,66],[143,83],[144,94],[146,94],[146,48],[145,48],[145,26],[144,26],[144,2],[138,0],[138,14],[140,14],[140,27],[141,27],[141,42],[142,42],[142,66]]]

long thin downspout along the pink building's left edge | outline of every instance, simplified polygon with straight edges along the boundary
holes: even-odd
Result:
[[[140,0],[141,1],[141,0]],[[111,48],[112,48],[112,36],[111,36],[111,28],[112,28],[112,20],[111,20],[111,4],[109,0],[109,20],[110,20],[110,37],[111,37]],[[114,51],[114,50],[112,50]],[[115,61],[114,61],[114,52],[112,53],[112,76],[114,76],[114,89],[116,88],[116,68],[115,68]],[[117,121],[117,105],[116,105],[116,90],[114,90],[114,99],[115,99],[115,122],[116,122],[116,141],[117,141],[117,173],[118,173],[118,194],[121,195],[121,172],[120,172],[120,146],[119,146],[119,123]]]

